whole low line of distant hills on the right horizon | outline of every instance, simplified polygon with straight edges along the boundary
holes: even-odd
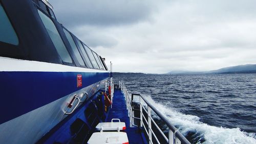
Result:
[[[193,72],[193,71],[171,71],[167,74],[212,74],[212,73],[256,73],[255,64],[225,67],[218,70]]]

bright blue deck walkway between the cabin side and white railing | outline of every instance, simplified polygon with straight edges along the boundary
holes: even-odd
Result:
[[[112,118],[119,118],[121,122],[125,122],[129,143],[144,143],[142,136],[137,127],[130,127],[130,120],[128,117],[128,111],[126,110],[124,95],[120,90],[115,90],[112,109],[109,111],[107,121],[111,121]]]

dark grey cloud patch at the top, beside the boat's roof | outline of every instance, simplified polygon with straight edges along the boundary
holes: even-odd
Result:
[[[68,27],[129,25],[150,17],[151,1],[49,1],[57,19]]]

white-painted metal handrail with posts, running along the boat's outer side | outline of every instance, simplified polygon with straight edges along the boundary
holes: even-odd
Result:
[[[145,128],[145,125],[144,125],[144,122],[143,122],[143,118],[145,119],[145,122],[148,123],[150,122],[151,124],[151,121],[153,121],[153,124],[156,126],[157,130],[162,134],[163,136],[163,132],[161,131],[161,129],[157,126],[156,122],[154,121],[154,119],[151,117],[151,110],[154,111],[158,117],[165,123],[165,125],[168,127],[168,137],[166,137],[165,135],[163,136],[164,139],[166,140],[166,142],[168,142],[169,144],[170,143],[184,143],[184,144],[190,144],[190,142],[177,130],[177,128],[175,128],[171,123],[170,121],[166,118],[166,116],[164,116],[159,110],[157,110],[150,102],[148,102],[148,100],[142,96],[141,94],[135,94],[135,93],[132,93],[132,98],[131,98],[131,101],[130,101],[130,98],[129,98],[129,93],[127,92],[127,89],[125,87],[125,85],[123,84],[122,81],[119,81],[119,88],[121,88],[121,91],[124,93],[124,96],[125,96],[125,101],[126,101],[126,107],[129,111],[129,117],[130,117],[130,123],[131,121],[133,122],[132,123],[132,126],[136,126],[134,125],[134,118],[137,118],[137,119],[140,119],[140,125],[138,124],[138,126],[140,127],[144,127]],[[137,104],[140,104],[140,107],[143,108],[143,110],[148,114],[148,119],[143,115],[143,112],[142,112],[142,108],[140,108],[140,115],[141,117],[138,118],[138,117],[134,117],[134,111],[133,111],[133,98],[134,96],[139,96],[142,98],[142,100],[145,102],[145,104],[147,105],[147,110],[144,108],[144,106],[142,106],[142,101],[141,101],[141,98],[140,98],[140,102],[137,102]],[[132,115],[131,115],[132,114]],[[130,116],[131,115],[131,116]],[[141,119],[142,118],[142,119]],[[131,124],[130,124],[131,125]],[[145,129],[146,130],[146,129]],[[159,140],[157,139],[155,133],[153,132],[151,126],[148,126],[148,132],[146,132],[146,134],[148,135],[148,141],[150,143],[153,143],[152,141],[152,134],[153,136],[156,138],[156,141],[157,143],[159,143]]]

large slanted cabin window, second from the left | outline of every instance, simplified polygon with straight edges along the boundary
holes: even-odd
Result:
[[[67,48],[65,47],[52,20],[48,16],[46,16],[44,13],[42,13],[40,10],[37,10],[37,11],[50,38],[52,39],[53,45],[55,46],[60,58],[66,63],[72,63],[70,54]]]

